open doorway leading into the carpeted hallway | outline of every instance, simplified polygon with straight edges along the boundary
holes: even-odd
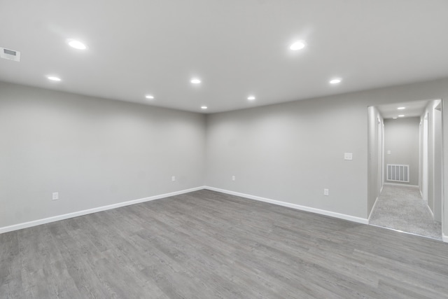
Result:
[[[368,107],[369,224],[442,239],[442,100]]]

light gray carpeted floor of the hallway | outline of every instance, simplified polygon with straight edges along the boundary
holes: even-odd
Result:
[[[370,216],[370,225],[442,239],[441,224],[433,220],[419,188],[384,185]]]

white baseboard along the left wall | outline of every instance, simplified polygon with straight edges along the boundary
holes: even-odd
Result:
[[[104,206],[104,207],[97,207],[97,208],[93,208],[93,209],[86,209],[86,210],[83,210],[83,211],[76,211],[76,212],[69,213],[69,214],[63,214],[63,215],[59,215],[59,216],[52,216],[52,217],[38,219],[38,220],[29,221],[29,222],[25,222],[25,223],[18,223],[18,224],[14,224],[14,225],[4,226],[3,228],[0,228],[0,234],[3,233],[3,232],[11,232],[13,230],[21,230],[22,228],[30,228],[31,226],[41,225],[41,224],[55,222],[55,221],[61,221],[61,220],[64,220],[64,219],[78,217],[78,216],[83,216],[83,215],[92,214],[92,213],[97,213],[99,211],[106,211],[106,210],[109,210],[109,209],[116,209],[116,208],[119,208],[119,207],[125,207],[125,206],[129,206],[131,204],[139,204],[141,202],[149,202],[151,200],[160,200],[161,198],[170,197],[170,196],[174,196],[174,195],[180,195],[180,194],[183,194],[183,193],[189,193],[189,192],[193,192],[193,191],[197,191],[197,190],[202,190],[204,188],[205,188],[204,186],[200,186],[200,187],[190,188],[190,189],[186,189],[186,190],[180,190],[180,191],[176,191],[176,192],[172,192],[172,193],[165,193],[165,194],[160,194],[160,195],[154,195],[154,196],[150,196],[150,197],[140,198],[139,200],[130,200],[128,202],[118,202],[117,204],[109,204],[109,205]]]

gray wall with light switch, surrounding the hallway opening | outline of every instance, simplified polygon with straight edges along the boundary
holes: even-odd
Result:
[[[206,184],[367,218],[367,106],[444,98],[448,78],[211,114]],[[344,161],[344,152],[353,160]],[[446,158],[444,163],[446,174]]]

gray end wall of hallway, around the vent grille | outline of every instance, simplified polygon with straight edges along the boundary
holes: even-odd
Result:
[[[419,117],[384,120],[385,178],[387,178],[386,165],[409,165],[409,183],[402,184],[419,186],[419,134]],[[391,151],[390,155],[388,151]]]

